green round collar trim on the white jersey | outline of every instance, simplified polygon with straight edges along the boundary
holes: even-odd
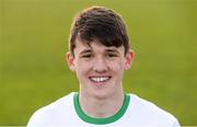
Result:
[[[130,95],[125,93],[123,106],[115,115],[113,115],[111,117],[106,117],[106,118],[95,118],[95,117],[88,116],[82,111],[82,108],[79,104],[79,93],[74,93],[74,97],[73,97],[74,109],[76,109],[78,116],[85,123],[96,124],[96,125],[111,124],[111,123],[114,123],[114,122],[118,120],[119,118],[121,118],[121,116],[127,111],[129,102],[130,102]]]

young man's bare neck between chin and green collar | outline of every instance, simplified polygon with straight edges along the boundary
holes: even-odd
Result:
[[[123,102],[123,89],[120,89],[118,92],[115,92],[115,94],[102,99],[89,95],[85,92],[80,92],[79,94],[79,103],[82,111],[86,115],[96,118],[113,116],[121,108]]]

